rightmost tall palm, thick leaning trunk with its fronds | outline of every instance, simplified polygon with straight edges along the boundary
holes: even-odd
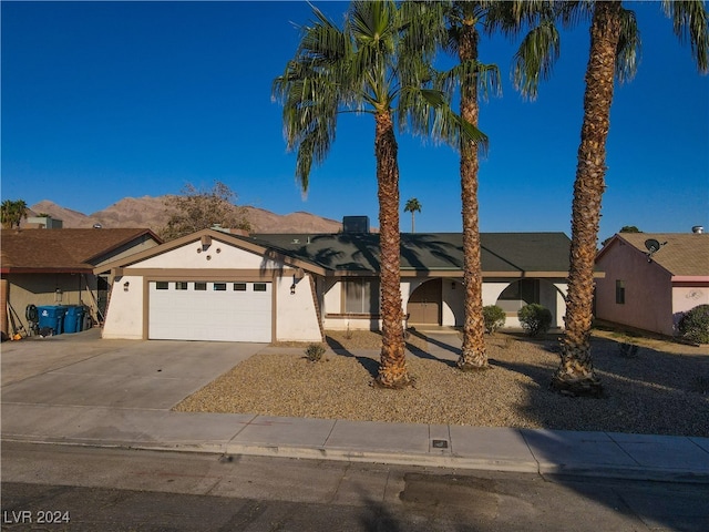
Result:
[[[709,32],[705,3],[700,0],[662,1],[672,19],[675,33],[688,39],[700,72],[708,71]],[[561,341],[561,364],[552,378],[552,388],[575,395],[598,396],[603,391],[590,354],[593,320],[594,262],[605,191],[606,140],[610,123],[610,104],[615,79],[634,76],[640,39],[635,13],[619,1],[559,2],[555,16],[573,23],[589,14],[590,50],[586,68],[584,119],[572,204],[572,247],[569,254],[566,330]],[[528,66],[538,64],[543,49],[528,43],[517,57],[517,85],[535,93],[536,79]],[[538,43],[537,43],[538,44]],[[548,49],[547,49],[548,50]]]

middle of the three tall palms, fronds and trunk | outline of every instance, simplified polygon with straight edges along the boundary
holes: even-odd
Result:
[[[452,94],[460,88],[460,115],[477,126],[480,115],[479,98],[490,93],[499,94],[501,80],[497,66],[479,61],[479,27],[492,32],[497,25],[507,31],[516,31],[527,19],[533,19],[548,2],[500,2],[477,1],[432,1],[407,2],[419,10],[418,21],[428,35],[423,47],[442,47],[456,55],[459,62],[440,76],[443,90]],[[410,8],[413,9],[413,8]],[[451,131],[443,130],[443,132]],[[450,142],[449,139],[444,139]],[[463,346],[458,367],[463,370],[485,369],[485,323],[482,300],[482,264],[480,242],[480,218],[477,204],[479,150],[486,144],[466,137],[459,137],[461,164],[461,201],[463,222],[463,285],[465,286]],[[452,143],[455,145],[454,143]]]

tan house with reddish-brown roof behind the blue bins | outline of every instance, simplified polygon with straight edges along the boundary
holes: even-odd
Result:
[[[2,229],[0,321],[29,329],[28,305],[85,305],[103,321],[107,278],[94,275],[101,264],[157,246],[150,229]],[[14,332],[14,331],[13,331]]]

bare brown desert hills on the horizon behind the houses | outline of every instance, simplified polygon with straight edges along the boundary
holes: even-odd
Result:
[[[341,222],[315,214],[297,212],[280,215],[257,207],[245,207],[254,233],[337,233]],[[110,207],[86,215],[43,200],[30,207],[28,216],[49,214],[61,219],[63,227],[147,227],[158,232],[167,223],[165,196],[125,197]],[[23,222],[24,224],[24,222]]]

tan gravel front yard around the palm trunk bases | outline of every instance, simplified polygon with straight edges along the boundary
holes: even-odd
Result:
[[[448,336],[451,345],[460,346],[455,335]],[[548,390],[558,364],[553,336],[486,337],[491,369],[464,374],[455,368],[453,352],[441,356],[440,349],[427,349],[423,335],[412,335],[408,365],[415,386],[403,390],[370,386],[377,375],[379,340],[376,332],[328,332],[336,351],[329,350],[319,362],[305,358],[305,346],[276,346],[239,364],[175,409],[709,437],[707,347],[598,332],[594,364],[605,395],[592,399]],[[637,351],[624,351],[624,344],[638,345]]]

